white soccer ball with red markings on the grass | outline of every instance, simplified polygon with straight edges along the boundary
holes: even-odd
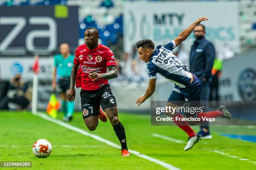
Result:
[[[51,154],[51,143],[46,139],[39,139],[33,145],[33,153],[38,158],[46,158]]]

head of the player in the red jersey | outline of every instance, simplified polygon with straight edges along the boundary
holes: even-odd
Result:
[[[99,37],[99,30],[97,28],[89,27],[84,32],[84,42],[89,49],[98,46]]]

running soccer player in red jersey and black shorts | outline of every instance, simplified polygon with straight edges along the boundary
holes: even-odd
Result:
[[[99,31],[90,27],[84,32],[85,44],[77,47],[71,72],[67,100],[75,99],[75,82],[81,87],[81,107],[84,123],[91,131],[98,125],[100,106],[105,111],[121,144],[122,156],[129,156],[125,129],[118,118],[118,109],[108,80],[118,76],[113,52],[98,44]]]

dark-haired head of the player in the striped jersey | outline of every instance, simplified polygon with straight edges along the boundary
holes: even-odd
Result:
[[[152,40],[143,39],[136,43],[136,47],[138,48],[139,57],[144,62],[149,62],[150,56],[155,50],[155,45]]]

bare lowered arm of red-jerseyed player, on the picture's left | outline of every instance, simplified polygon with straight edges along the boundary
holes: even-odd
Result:
[[[77,78],[77,72],[78,72],[79,66],[73,65],[72,71],[71,71],[71,76],[70,76],[70,87],[69,90],[67,91],[67,100],[69,102],[74,102],[75,100],[75,90],[74,86],[76,84],[76,78]]]

